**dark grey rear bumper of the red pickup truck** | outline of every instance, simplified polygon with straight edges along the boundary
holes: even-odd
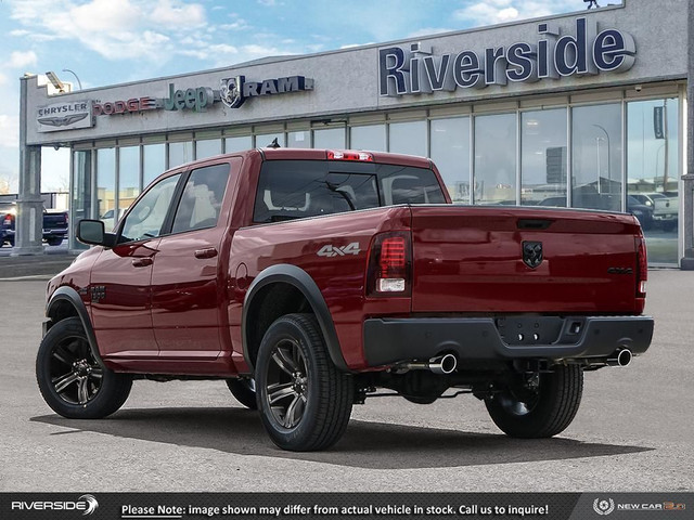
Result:
[[[428,360],[606,359],[617,350],[645,352],[653,337],[650,316],[371,318],[364,322],[369,366]],[[512,330],[509,328],[512,327]],[[500,328],[503,332],[500,332]],[[552,337],[543,343],[542,338]]]

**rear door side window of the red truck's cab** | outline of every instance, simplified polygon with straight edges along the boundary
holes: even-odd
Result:
[[[223,164],[193,170],[176,210],[171,233],[217,225],[229,169],[229,165]]]

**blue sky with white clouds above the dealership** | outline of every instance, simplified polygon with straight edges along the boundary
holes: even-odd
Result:
[[[88,89],[586,6],[582,0],[0,0],[0,193],[17,192],[25,73],[53,70],[75,88],[77,76]],[[66,150],[42,151],[43,192],[67,190],[68,165]]]

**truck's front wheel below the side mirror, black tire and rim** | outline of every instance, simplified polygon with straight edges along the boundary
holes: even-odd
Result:
[[[36,379],[46,403],[70,419],[100,419],[128,399],[132,378],[94,359],[79,317],[53,325],[36,358]]]

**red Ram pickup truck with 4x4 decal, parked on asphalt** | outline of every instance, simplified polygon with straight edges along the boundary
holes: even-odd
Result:
[[[286,450],[329,447],[380,389],[483,400],[563,431],[583,372],[646,351],[646,252],[616,212],[451,204],[430,160],[254,150],[172,169],[48,286],[37,379],[72,418],[133,379],[224,379]]]

